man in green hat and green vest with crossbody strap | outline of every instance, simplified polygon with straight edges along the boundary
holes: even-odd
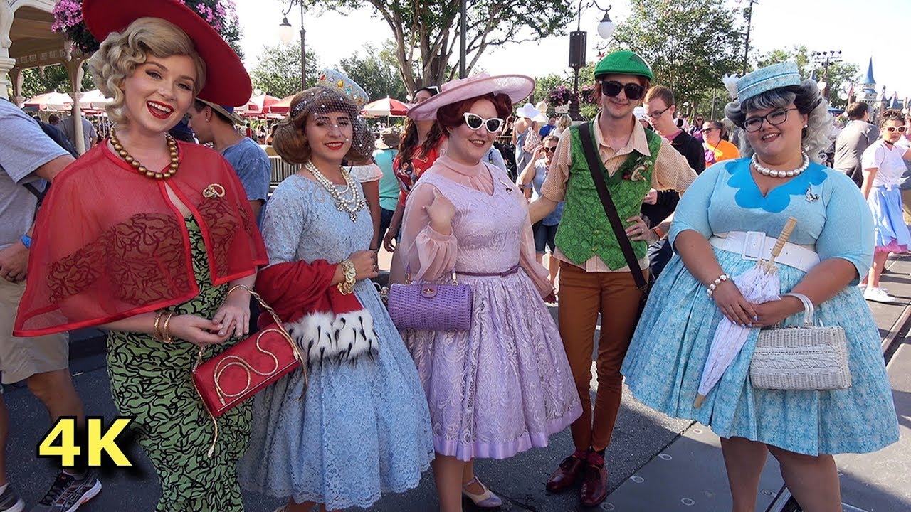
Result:
[[[646,281],[649,243],[668,231],[670,222],[649,228],[640,218],[642,200],[650,189],[682,192],[696,179],[686,159],[658,134],[646,131],[633,116],[633,108],[653,78],[642,57],[629,51],[605,56],[595,67],[595,94],[600,112],[589,121],[591,147],[597,150],[598,171],[625,226],[638,269],[630,269],[614,230],[611,229],[595,180],[582,149],[584,131],[574,126],[560,138],[556,154],[541,189],[531,204],[532,222],[541,220],[565,201],[557,231],[560,260],[559,329],[579,399],[582,415],[572,425],[576,451],[560,463],[548,480],[557,492],[582,477],[583,506],[594,507],[608,495],[604,450],[617,421],[622,380],[620,365],[630,346],[639,317],[644,290],[633,271]],[[598,393],[592,411],[589,382],[595,327],[601,314],[598,343]]]

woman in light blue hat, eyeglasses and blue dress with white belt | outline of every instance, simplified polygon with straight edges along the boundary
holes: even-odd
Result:
[[[732,84],[733,86],[733,84]],[[734,88],[734,87],[732,87]],[[661,273],[622,372],[643,404],[710,425],[722,438],[734,512],[752,511],[769,453],[805,512],[841,510],[833,454],[867,453],[898,440],[880,336],[853,283],[873,259],[873,219],[854,181],[811,160],[829,144],[831,116],[813,80],[793,63],[736,82],[725,114],[743,128],[741,153],[706,169],[681,198],[670,227],[675,256]],[[769,260],[787,220],[797,219],[776,259],[780,300],[752,303],[732,277]],[[846,389],[754,387],[760,329],[815,319],[841,326]],[[742,349],[701,404],[703,365],[722,319],[750,327]]]

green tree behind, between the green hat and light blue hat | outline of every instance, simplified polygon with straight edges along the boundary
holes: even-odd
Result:
[[[669,87],[678,104],[695,109],[723,75],[739,72],[742,12],[727,0],[631,0],[630,10],[616,46],[648,61],[652,83]]]

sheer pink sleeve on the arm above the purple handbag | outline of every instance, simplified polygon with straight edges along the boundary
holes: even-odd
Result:
[[[435,187],[418,182],[408,194],[402,221],[404,266],[413,280],[435,281],[453,270],[458,254],[455,234],[443,235],[430,227],[425,206],[434,202]],[[532,254],[534,261],[534,254]]]

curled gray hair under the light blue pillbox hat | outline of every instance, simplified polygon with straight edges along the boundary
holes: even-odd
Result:
[[[829,102],[822,97],[814,80],[804,80],[796,86],[774,88],[748,97],[742,103],[734,100],[724,108],[724,115],[736,126],[743,128],[748,112],[787,108],[792,102],[801,114],[807,116],[801,146],[811,160],[821,163],[821,152],[832,142],[832,114],[829,113]],[[752,157],[755,150],[750,145],[750,140],[746,137],[740,139],[741,156]]]

